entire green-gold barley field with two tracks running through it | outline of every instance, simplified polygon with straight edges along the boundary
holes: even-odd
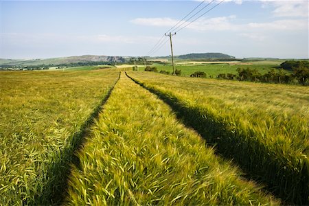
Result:
[[[0,73],[0,205],[307,205],[309,88]]]

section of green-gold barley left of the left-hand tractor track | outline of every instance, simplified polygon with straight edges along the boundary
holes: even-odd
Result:
[[[73,151],[115,71],[0,73],[0,205],[60,201]]]

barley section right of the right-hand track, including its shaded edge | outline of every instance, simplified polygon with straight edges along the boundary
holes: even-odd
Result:
[[[308,204],[309,90],[128,72],[288,203]]]

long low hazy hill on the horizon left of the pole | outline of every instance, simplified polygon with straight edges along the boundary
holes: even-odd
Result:
[[[121,56],[95,56],[95,55],[83,55],[83,56],[69,56],[60,58],[38,58],[31,60],[13,60],[0,58],[0,65],[12,65],[12,66],[35,66],[35,65],[69,65],[78,63],[89,62],[125,62],[125,59]]]

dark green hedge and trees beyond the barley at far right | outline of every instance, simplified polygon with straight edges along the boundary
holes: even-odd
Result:
[[[226,80],[239,80],[251,82],[269,82],[278,84],[302,84],[309,85],[309,62],[308,61],[294,61],[289,60],[283,62],[282,69],[271,69],[268,73],[261,74],[257,69],[238,68],[238,74],[220,73],[217,78]],[[293,71],[288,73],[284,70]]]

